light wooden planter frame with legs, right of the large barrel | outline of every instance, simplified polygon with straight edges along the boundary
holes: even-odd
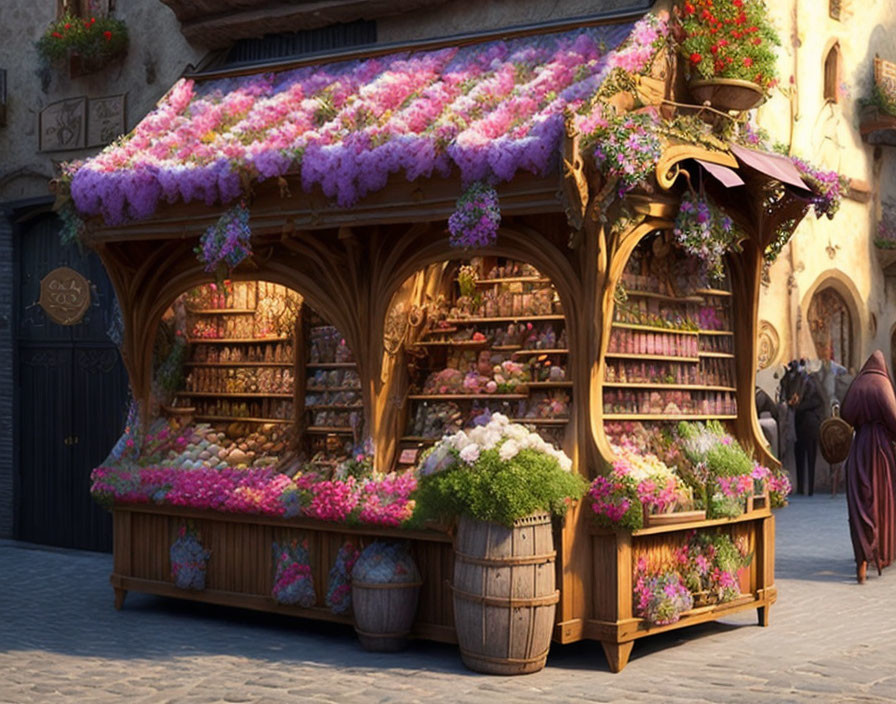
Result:
[[[644,619],[637,618],[632,575],[638,556],[671,553],[684,542],[688,531],[716,527],[730,532],[734,538],[746,538],[753,552],[750,566],[741,575],[743,595],[724,604],[694,608],[682,614],[676,623],[666,626],[649,626]],[[777,599],[774,535],[775,519],[767,507],[732,519],[669,524],[632,532],[593,528],[593,618],[585,624],[585,637],[601,642],[610,670],[619,672],[628,663],[638,638],[714,621],[746,609],[756,609],[759,625],[767,626],[769,607]]]

